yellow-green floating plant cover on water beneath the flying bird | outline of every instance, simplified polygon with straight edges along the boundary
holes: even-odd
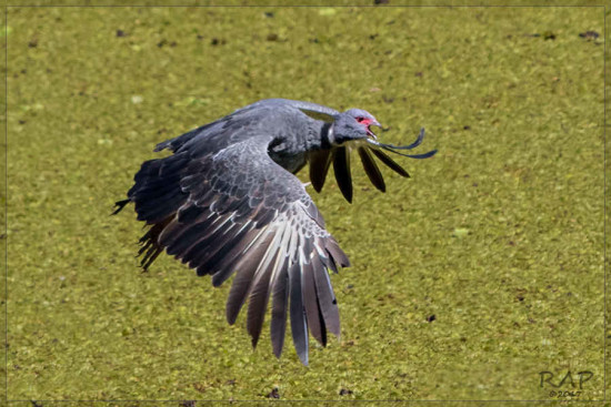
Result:
[[[601,10],[10,8],[9,399],[547,399],[568,370],[602,398]],[[158,142],[264,98],[439,150],[310,191],[352,267],[308,368],[109,216]]]

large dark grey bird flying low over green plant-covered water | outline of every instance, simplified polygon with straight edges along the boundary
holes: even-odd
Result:
[[[140,238],[141,267],[167,254],[211,275],[220,286],[236,274],[226,305],[234,324],[248,301],[247,330],[256,348],[271,299],[270,336],[280,358],[287,320],[301,363],[309,364],[309,334],[323,347],[328,333],[340,337],[338,302],[330,274],[350,261],[296,174],[309,164],[310,183],[321,192],[333,165],[338,186],[352,202],[351,151],[357,150],[369,180],[385,183],[375,159],[403,177],[408,172],[385,152],[405,154],[420,145],[384,144],[368,111],[289,99],[264,99],[157,144],[172,154],[142,163],[118,214],[133,203],[149,228]]]

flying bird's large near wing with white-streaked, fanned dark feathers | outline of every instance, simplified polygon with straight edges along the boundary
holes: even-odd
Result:
[[[186,170],[166,180],[180,185],[182,203],[174,213],[157,206],[163,216],[147,218],[147,202],[133,199],[139,218],[153,223],[142,238],[141,253],[147,252],[142,264],[150,265],[164,248],[198,275],[212,275],[214,286],[236,272],[227,302],[228,322],[236,322],[248,298],[247,327],[256,346],[271,297],[274,354],[279,357],[282,353],[290,309],[293,343],[302,363],[308,364],[308,332],[322,345],[328,332],[340,334],[328,271],[337,272],[349,261],[325,231],[303,184],[268,155],[271,141],[268,135],[251,135],[181,162]],[[163,160],[180,160],[186,153]],[[141,189],[148,184],[146,175],[141,175]],[[159,181],[149,184],[154,182]]]

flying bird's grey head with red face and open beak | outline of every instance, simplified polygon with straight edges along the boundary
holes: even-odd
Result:
[[[347,141],[372,138],[371,126],[380,126],[373,114],[362,109],[350,109],[334,116],[329,141],[339,145]]]

